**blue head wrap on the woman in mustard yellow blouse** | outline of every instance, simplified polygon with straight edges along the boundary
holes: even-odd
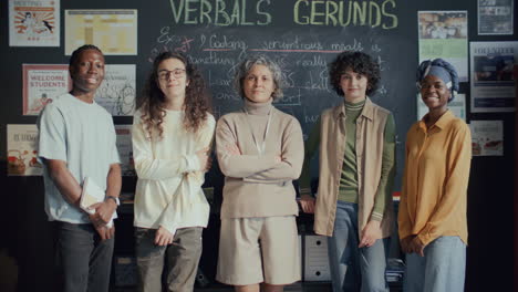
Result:
[[[428,75],[434,75],[446,84],[452,91],[448,102],[453,101],[454,92],[458,92],[458,75],[455,67],[443,59],[423,61],[417,67],[417,88],[421,88],[421,82]]]

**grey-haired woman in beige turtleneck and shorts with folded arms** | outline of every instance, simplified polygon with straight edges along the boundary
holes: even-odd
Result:
[[[272,105],[283,82],[266,56],[245,60],[235,77],[245,106],[216,127],[225,175],[216,279],[238,292],[277,292],[300,280],[291,181],[300,176],[304,149],[297,118]]]

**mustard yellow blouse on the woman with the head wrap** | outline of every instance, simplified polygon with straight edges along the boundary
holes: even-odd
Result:
[[[405,158],[400,238],[417,236],[428,244],[441,236],[458,236],[467,244],[469,127],[449,111],[429,129],[423,118],[406,135]]]

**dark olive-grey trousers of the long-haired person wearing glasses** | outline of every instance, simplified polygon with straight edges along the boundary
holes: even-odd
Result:
[[[201,227],[177,229],[173,243],[159,247],[154,243],[156,229],[136,228],[138,291],[160,292],[163,272],[167,291],[193,291],[201,257]]]

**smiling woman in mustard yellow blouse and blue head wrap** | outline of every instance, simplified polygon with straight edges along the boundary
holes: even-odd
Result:
[[[448,111],[457,72],[442,59],[424,61],[417,85],[428,114],[406,136],[398,213],[404,291],[464,291],[472,136]]]

